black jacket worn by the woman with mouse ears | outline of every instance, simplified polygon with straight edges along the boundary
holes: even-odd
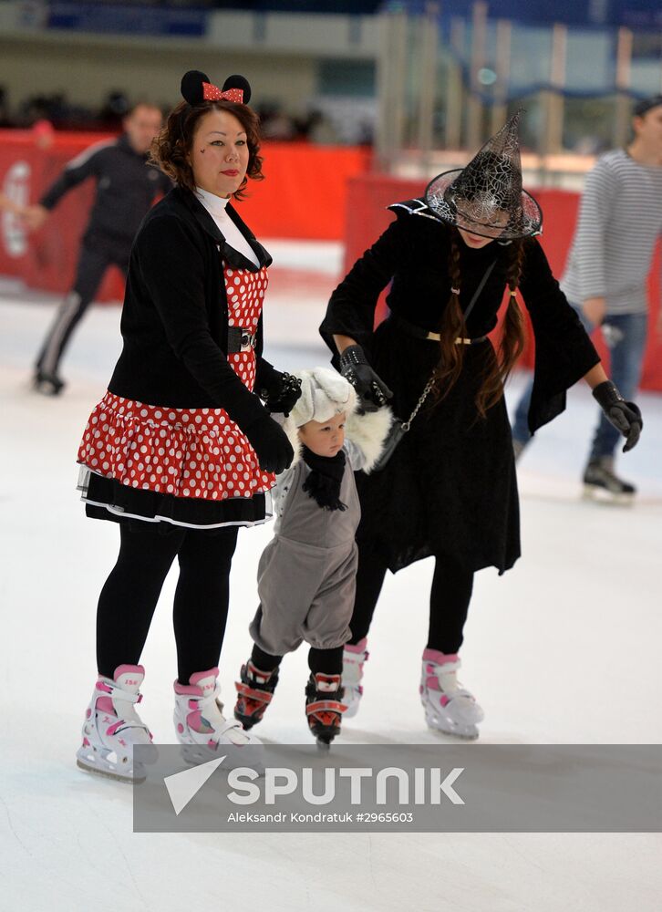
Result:
[[[226,211],[259,267],[226,244],[188,190],[175,188],[148,212],[131,250],[121,320],[124,347],[109,390],[150,405],[226,409],[245,430],[264,409],[225,357],[223,261],[257,272],[272,260],[232,205]],[[262,319],[255,355],[256,389],[269,389],[277,372],[262,358]]]

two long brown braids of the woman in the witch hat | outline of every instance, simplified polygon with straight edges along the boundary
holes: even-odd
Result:
[[[459,290],[461,282],[459,234],[457,229],[452,231],[449,275],[453,289]],[[496,358],[488,359],[476,396],[476,409],[481,418],[484,418],[487,410],[502,398],[503,384],[524,348],[523,316],[516,298],[517,287],[522,275],[523,259],[522,241],[513,241],[506,279],[510,295],[503,321],[502,338]],[[442,317],[440,335],[440,362],[435,370],[437,401],[445,399],[450,389],[457,383],[464,360],[464,346],[456,345],[455,339],[467,336],[467,326],[460,308],[460,296],[455,291],[450,293],[450,301]]]

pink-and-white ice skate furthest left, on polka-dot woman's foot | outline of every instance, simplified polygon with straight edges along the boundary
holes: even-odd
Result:
[[[151,734],[134,709],[140,703],[141,665],[119,665],[114,679],[99,677],[86,710],[83,743],[76,754],[81,770],[97,772],[119,782],[144,782],[145,768],[133,762],[133,748],[146,745],[142,759],[154,762],[156,748]]]

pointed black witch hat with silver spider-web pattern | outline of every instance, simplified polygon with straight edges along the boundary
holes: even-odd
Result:
[[[542,232],[543,212],[522,190],[521,114],[513,114],[464,168],[429,182],[425,202],[442,222],[507,241]]]

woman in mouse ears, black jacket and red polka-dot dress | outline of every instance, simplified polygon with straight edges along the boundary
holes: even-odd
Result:
[[[129,782],[144,777],[133,746],[150,744],[134,708],[140,653],[175,557],[177,737],[193,753],[256,741],[223,718],[217,664],[238,527],[265,521],[274,473],[294,456],[253,389],[285,412],[299,396],[262,357],[271,257],[230,202],[262,176],[250,88],[191,71],[181,92],[152,149],[177,186],[133,245],[124,347],[78,451],[86,512],[120,535],[98,601],[98,682],[78,765]]]

